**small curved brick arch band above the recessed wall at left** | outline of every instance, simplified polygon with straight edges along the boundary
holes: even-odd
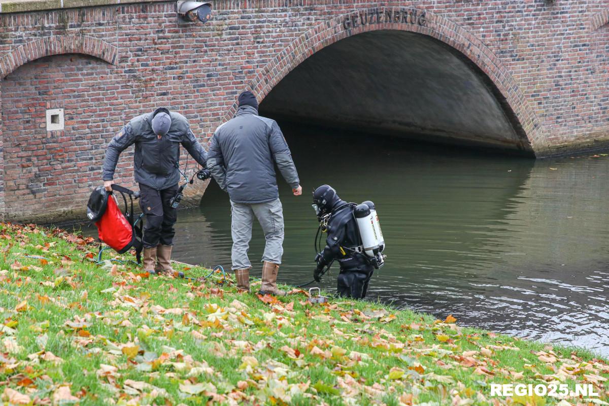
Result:
[[[116,65],[116,46],[88,35],[54,35],[38,38],[16,47],[0,57],[0,79],[21,65],[58,54],[85,54]]]

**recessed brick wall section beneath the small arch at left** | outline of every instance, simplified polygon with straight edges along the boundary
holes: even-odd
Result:
[[[9,217],[86,201],[82,186],[99,183],[105,144],[119,124],[119,86],[108,64],[82,54],[44,57],[10,73],[1,88]],[[46,131],[47,108],[64,109],[65,130]]]

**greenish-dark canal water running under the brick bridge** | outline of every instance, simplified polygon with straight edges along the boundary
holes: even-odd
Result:
[[[387,261],[369,298],[609,355],[609,157],[535,161],[295,126],[284,133],[305,193],[294,197],[280,182],[280,281],[312,279],[311,191],[328,183],[378,208]],[[258,225],[253,235],[259,276]],[[200,209],[180,212],[175,243],[178,260],[230,268],[230,204],[215,184]],[[333,291],[336,275],[322,287]]]

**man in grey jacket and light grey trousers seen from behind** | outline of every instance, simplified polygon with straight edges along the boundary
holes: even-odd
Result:
[[[256,96],[245,91],[239,95],[239,110],[235,117],[220,125],[214,133],[207,165],[216,182],[230,197],[231,257],[238,289],[250,290],[252,264],[247,250],[256,217],[266,239],[259,293],[283,296],[286,293],[276,285],[284,234],[275,164],[294,195],[301,195],[302,187],[286,139],[274,120],[258,116]]]

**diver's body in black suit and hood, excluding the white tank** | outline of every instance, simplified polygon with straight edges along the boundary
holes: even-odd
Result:
[[[359,249],[359,228],[353,216],[355,207],[353,203],[342,200],[333,187],[327,184],[313,192],[313,208],[317,219],[325,224],[328,233],[326,247],[316,258],[317,267],[313,276],[319,282],[323,268],[337,259],[340,264],[338,294],[363,299],[375,268]]]

